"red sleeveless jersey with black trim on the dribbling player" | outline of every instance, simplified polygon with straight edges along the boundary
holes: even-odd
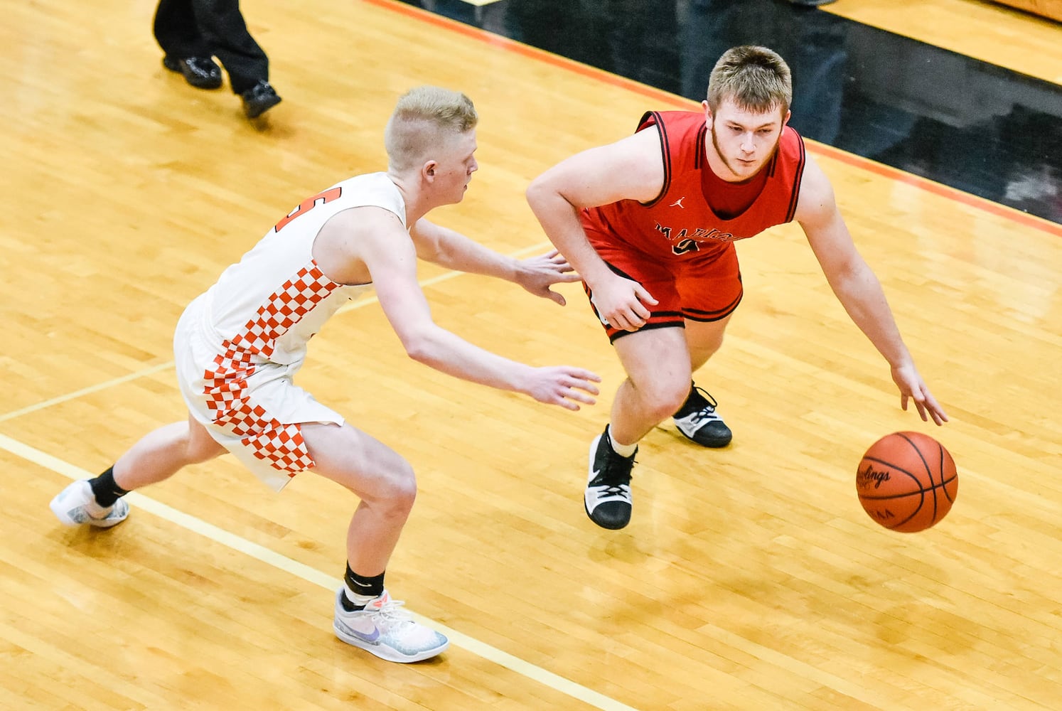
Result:
[[[705,155],[704,114],[648,112],[637,131],[651,125],[661,134],[664,189],[648,203],[620,200],[583,210],[587,226],[615,235],[645,253],[675,258],[710,254],[729,242],[793,219],[805,156],[804,140],[789,126],[783,129],[778,150],[764,166],[766,180],[760,179],[759,193],[748,207],[726,219],[710,203],[727,201],[712,200],[709,191],[741,190],[748,184],[726,184],[712,172]]]

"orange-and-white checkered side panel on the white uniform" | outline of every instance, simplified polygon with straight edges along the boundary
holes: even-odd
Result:
[[[203,394],[215,424],[240,437],[256,457],[290,476],[313,465],[302,430],[298,424],[285,424],[252,403],[247,378],[255,372],[255,357],[269,358],[276,339],[339,286],[311,261],[270,295],[243,332],[222,343],[224,352],[203,375],[207,383]]]

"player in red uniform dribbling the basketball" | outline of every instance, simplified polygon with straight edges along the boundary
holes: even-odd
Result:
[[[674,417],[683,435],[725,446],[731,430],[692,373],[722,344],[741,301],[734,241],[795,219],[829,286],[889,362],[901,406],[947,416],[904,345],[881,285],[856,251],[833,187],[791,128],[789,67],[736,47],[712,71],[702,112],[652,112],[634,135],[563,160],[528,202],[583,277],[627,379],[590,445],[586,513],[603,528],[631,519],[638,441]]]

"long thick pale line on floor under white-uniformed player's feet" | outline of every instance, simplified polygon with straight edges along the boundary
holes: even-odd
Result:
[[[12,439],[6,435],[0,435],[0,448],[3,448],[17,457],[21,457],[27,461],[33,462],[38,467],[51,470],[56,474],[62,474],[63,476],[73,480],[85,479],[93,476],[93,474],[74,467],[58,457],[53,457],[46,452],[41,452],[40,450]],[[185,528],[186,530],[199,534],[215,543],[220,543],[225,547],[255,558],[256,560],[259,560],[277,570],[290,573],[291,575],[302,578],[307,582],[324,588],[328,590],[328,592],[335,592],[340,588],[340,586],[343,585],[341,579],[322,573],[315,568],[301,563],[297,560],[292,560],[291,558],[288,558],[287,556],[284,556],[271,548],[254,543],[253,541],[249,541],[247,539],[232,534],[224,528],[219,528],[218,526],[207,523],[202,519],[196,519],[195,517],[185,513],[184,511],[167,506],[166,504],[157,502],[153,498],[149,498],[143,494],[134,491],[126,494],[125,498],[136,508],[153,513],[160,519],[165,519],[170,523]],[[429,627],[438,629],[446,634],[450,638],[450,643],[455,646],[461,647],[462,649],[470,651],[486,661],[503,666],[511,672],[515,672],[520,676],[536,681],[544,687],[548,687],[549,689],[565,694],[566,696],[583,701],[584,704],[593,706],[596,709],[602,709],[603,711],[636,711],[634,708],[617,701],[614,698],[596,692],[593,689],[587,689],[586,687],[578,684],[570,679],[566,679],[560,675],[544,670],[541,666],[536,666],[529,661],[509,654],[508,651],[502,651],[501,649],[491,646],[485,642],[480,642],[473,637],[459,632],[458,630],[440,624],[434,620],[430,620],[412,611],[410,611],[410,614],[421,624],[428,625]]]

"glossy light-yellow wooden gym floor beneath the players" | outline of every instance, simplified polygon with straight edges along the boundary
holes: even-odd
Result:
[[[534,175],[690,105],[390,0],[244,4],[285,100],[258,124],[162,69],[153,3],[22,4],[0,27],[0,708],[1059,708],[1062,226],[822,143],[945,427],[900,410],[780,227],[740,243],[744,304],[698,378],[734,444],[652,433],[634,521],[604,531],[580,497],[622,373],[578,287],[561,308],[426,265],[444,326],[604,378],[578,413],[448,378],[406,358],[371,299],[314,339],[301,385],[418,473],[388,585],[450,634],[441,658],[335,639],[355,502],[312,474],[277,495],[222,458],[131,494],[116,529],[62,528],[58,490],[184,417],[184,305],[291,205],[383,168],[401,91],[474,99],[481,169],[435,219],[514,255],[548,248],[523,198]],[[1062,81],[1059,27],[1021,13],[828,11]],[[897,429],[959,468],[955,508],[922,534],[879,528],[855,495],[862,451]]]

